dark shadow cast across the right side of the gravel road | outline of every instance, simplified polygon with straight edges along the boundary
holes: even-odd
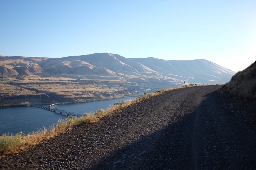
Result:
[[[218,91],[204,97],[192,112],[177,110],[179,120],[127,142],[91,169],[255,169],[255,129],[226,114]]]

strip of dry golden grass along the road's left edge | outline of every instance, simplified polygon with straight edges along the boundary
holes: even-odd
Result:
[[[183,87],[190,87],[194,86],[194,84],[190,84],[189,86],[181,86],[181,87],[174,87],[170,89],[162,89],[158,90],[154,93],[144,93],[143,96],[137,97],[135,100],[127,100],[122,101],[119,103],[115,103],[108,109],[101,109],[97,110],[93,114],[85,113],[82,117],[70,117],[64,120],[59,120],[56,126],[48,127],[41,129],[37,132],[33,132],[31,134],[9,134],[5,133],[0,136],[0,156],[9,154],[9,153],[15,153],[19,151],[25,150],[28,146],[34,145],[39,143],[42,140],[52,138],[53,136],[62,133],[64,131],[67,131],[71,129],[72,127],[78,125],[78,124],[91,124],[99,121],[101,117],[104,117],[106,114],[113,113],[114,111],[118,111],[119,109],[123,107],[127,107],[129,105],[132,105],[134,103],[137,103],[141,100],[144,100],[146,98],[163,94],[164,92],[168,90],[173,90],[177,88],[183,88]]]

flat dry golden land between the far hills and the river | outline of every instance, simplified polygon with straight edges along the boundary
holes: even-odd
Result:
[[[10,83],[10,84],[8,84]],[[96,84],[97,83],[97,84]],[[121,82],[122,83],[122,82]],[[111,83],[108,86],[104,83],[98,82],[87,82],[78,83],[74,81],[59,81],[59,80],[20,80],[20,82],[14,82],[12,80],[5,80],[0,82],[0,97],[13,96],[11,100],[5,102],[5,100],[0,101],[0,104],[40,104],[41,97],[33,97],[36,95],[44,94],[48,95],[47,100],[55,100],[56,102],[70,102],[70,101],[87,101],[92,99],[105,99],[111,97],[123,97],[127,87],[119,86],[120,82],[116,85]],[[128,93],[126,93],[127,95]],[[17,97],[19,95],[29,96],[29,97]],[[55,98],[56,97],[56,98]],[[16,100],[17,98],[17,100]],[[30,100],[31,98],[31,100]],[[35,98],[35,99],[32,99]],[[39,98],[39,99],[38,99]],[[58,98],[62,98],[63,101],[58,101]],[[0,98],[2,99],[2,98]],[[38,99],[38,100],[37,100]],[[20,102],[19,102],[20,100]],[[33,103],[36,101],[36,103]],[[32,103],[31,103],[32,102]]]

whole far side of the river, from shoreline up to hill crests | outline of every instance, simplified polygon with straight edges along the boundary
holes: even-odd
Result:
[[[135,96],[189,84],[223,84],[235,72],[208,60],[0,56],[0,105],[51,104]]]

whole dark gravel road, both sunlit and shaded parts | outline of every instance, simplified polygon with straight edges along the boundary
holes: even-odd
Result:
[[[256,128],[228,114],[219,87],[148,98],[8,155],[0,169],[256,169]]]

